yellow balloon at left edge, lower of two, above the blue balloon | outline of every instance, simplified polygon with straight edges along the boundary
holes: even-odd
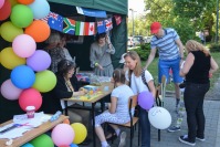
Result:
[[[25,64],[25,59],[18,56],[12,48],[4,48],[0,53],[1,64],[9,70]]]

